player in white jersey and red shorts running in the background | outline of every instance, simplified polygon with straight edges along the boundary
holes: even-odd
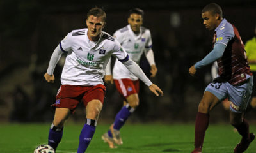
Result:
[[[143,24],[143,10],[134,8],[129,11],[128,25],[115,32],[114,37],[118,40],[124,50],[126,50],[132,61],[139,64],[141,55],[145,53],[148,62],[151,66],[151,77],[157,73],[156,64],[154,62],[154,54],[152,47],[152,38],[150,31]],[[139,80],[133,75],[122,62],[116,59],[113,68],[113,77],[111,75],[110,61],[106,68],[105,82],[113,83],[115,81],[116,89],[124,98],[124,106],[116,114],[115,121],[109,127],[109,131],[102,135],[104,142],[108,142],[109,147],[115,148],[115,144],[122,145],[120,137],[120,129],[124,126],[125,121],[134,112],[139,105]]]

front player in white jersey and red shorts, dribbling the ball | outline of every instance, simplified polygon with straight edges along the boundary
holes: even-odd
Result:
[[[87,13],[88,28],[74,30],[60,42],[54,50],[47,73],[47,82],[54,82],[53,71],[63,52],[67,52],[61,75],[61,87],[56,96],[54,120],[49,130],[48,144],[56,150],[63,135],[63,126],[69,115],[74,113],[77,104],[82,101],[85,106],[86,119],[79,137],[77,153],[85,152],[92,140],[97,125],[104,91],[102,78],[106,64],[111,55],[121,61],[127,69],[143,80],[150,91],[158,96],[163,92],[152,84],[138,64],[131,61],[120,43],[102,31],[106,24],[106,13],[100,8],[92,8]]]

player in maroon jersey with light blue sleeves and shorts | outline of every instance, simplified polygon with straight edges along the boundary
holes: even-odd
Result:
[[[246,59],[243,42],[234,25],[222,17],[221,7],[216,3],[207,4],[202,10],[206,29],[214,30],[213,50],[189,68],[195,75],[196,70],[218,61],[218,77],[205,89],[199,103],[195,122],[195,149],[192,153],[202,152],[205,131],[209,125],[209,113],[227,96],[230,99],[230,123],[242,136],[234,149],[235,153],[244,152],[254,140],[249,132],[249,124],[244,119],[244,111],[250,100],[253,77]]]

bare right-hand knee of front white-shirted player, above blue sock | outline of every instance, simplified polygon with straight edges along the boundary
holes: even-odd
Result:
[[[102,102],[98,99],[93,99],[86,106],[86,118],[98,119],[99,113],[102,110]]]

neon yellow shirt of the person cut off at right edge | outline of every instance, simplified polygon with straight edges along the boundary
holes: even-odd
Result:
[[[256,60],[256,36],[248,40],[244,46],[248,60]],[[250,69],[255,72],[256,64],[249,64]]]

